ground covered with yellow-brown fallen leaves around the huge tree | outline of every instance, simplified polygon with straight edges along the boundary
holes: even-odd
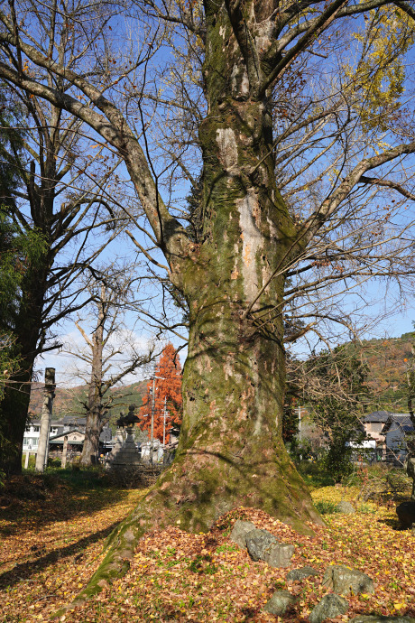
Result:
[[[316,502],[351,499],[352,489],[320,488]],[[43,499],[12,503],[0,521],[0,621],[44,620],[72,600],[102,558],[113,526],[143,495],[137,490],[102,489],[74,493],[64,486]],[[207,535],[188,535],[179,526],[147,535],[130,572],[88,603],[60,617],[84,621],[276,621],[263,605],[277,589],[299,597],[284,621],[308,621],[326,592],[322,575],[329,564],[368,573],[374,595],[349,597],[346,621],[356,614],[415,617],[415,536],[399,531],[393,509],[357,505],[355,515],[325,516],[315,537],[300,536],[261,511],[240,509],[223,517]],[[236,517],[295,544],[291,568],[305,565],[318,578],[286,582],[289,570],[254,563],[228,539]]]

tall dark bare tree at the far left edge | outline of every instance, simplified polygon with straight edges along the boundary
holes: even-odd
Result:
[[[89,267],[93,270],[119,227],[103,209],[118,160],[102,163],[99,153],[84,157],[82,125],[60,108],[13,85],[7,95],[4,108],[9,114],[2,116],[5,140],[0,157],[14,172],[15,184],[11,191],[2,186],[0,200],[7,206],[15,236],[27,239],[33,249],[30,261],[22,264],[13,310],[6,319],[20,366],[8,379],[0,404],[5,437],[14,449],[12,456],[1,451],[1,462],[7,471],[19,471],[34,360],[56,348],[53,326],[88,300],[79,296],[78,278]],[[13,139],[17,130],[18,141]],[[105,232],[105,241],[94,236],[98,229]]]

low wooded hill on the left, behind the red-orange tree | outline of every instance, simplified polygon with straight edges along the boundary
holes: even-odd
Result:
[[[127,411],[129,404],[140,406],[143,402],[147,381],[139,381],[128,386],[114,387],[110,390],[114,396],[114,405],[111,406],[111,412],[118,417],[120,411]],[[87,395],[87,386],[78,387],[57,387],[55,391],[55,399],[53,401],[53,419],[59,420],[65,415],[73,415],[74,417],[85,416],[85,411],[80,404],[81,400],[85,400]],[[34,418],[38,418],[42,413],[43,384],[32,383],[31,403],[29,413]]]

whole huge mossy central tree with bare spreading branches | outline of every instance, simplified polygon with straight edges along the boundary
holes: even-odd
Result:
[[[386,21],[383,14],[379,20],[383,8]],[[147,36],[149,50],[166,33],[178,69],[166,66],[165,51],[160,62],[180,97],[166,99],[157,88],[150,52],[140,73],[136,65],[130,70],[135,57],[124,58],[115,42],[97,42],[108,32],[112,9],[111,32],[137,33],[139,41]],[[319,316],[336,320],[324,304],[333,294],[323,288],[346,289],[355,274],[361,283],[412,270],[410,221],[402,212],[391,222],[381,212],[386,201],[375,195],[413,199],[405,177],[410,162],[402,160],[415,151],[412,117],[400,116],[401,83],[392,84],[387,70],[409,49],[414,11],[403,0],[142,0],[115,9],[95,3],[82,20],[78,56],[69,62],[46,49],[39,33],[46,13],[63,29],[78,24],[77,11],[74,3],[50,2],[44,11],[23,0],[12,4],[0,17],[0,77],[82,120],[123,158],[145,213],[137,225],[143,231],[150,224],[151,246],[165,263],[143,250],[155,269],[167,271],[189,321],[176,459],[120,529],[97,580],[120,570],[150,526],[207,530],[238,506],[261,507],[303,530],[307,521],[320,521],[281,441],[283,310],[302,316],[304,334]],[[121,14],[131,26],[115,18]],[[354,36],[356,25],[363,42]],[[376,33],[395,42],[385,56],[374,54]],[[365,64],[350,66],[351,58],[342,57],[345,42]],[[368,88],[378,73],[389,84],[381,105]],[[60,80],[71,89],[62,92]],[[189,212],[174,206],[170,182],[162,185],[161,126],[151,151],[152,101],[181,111],[180,140],[166,143],[163,157],[171,158],[170,181],[181,170],[198,184],[191,227],[183,220]],[[363,118],[368,103],[369,119]],[[381,121],[390,110],[395,120],[384,135]],[[191,158],[180,157],[186,144],[196,145],[199,178],[187,167]]]

